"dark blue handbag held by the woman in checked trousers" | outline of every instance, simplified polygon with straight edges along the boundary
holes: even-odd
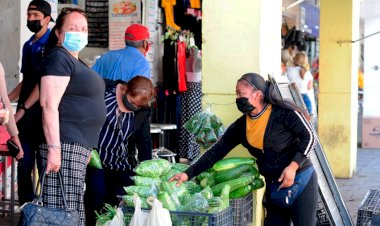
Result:
[[[45,167],[46,168],[46,167]],[[69,209],[66,201],[66,193],[62,179],[61,170],[58,171],[58,178],[63,195],[63,209],[45,207],[42,202],[42,187],[45,181],[46,169],[43,169],[40,176],[41,192],[32,202],[25,203],[21,209],[19,226],[37,225],[79,225],[79,214],[77,210]],[[36,191],[38,186],[36,188]]]

